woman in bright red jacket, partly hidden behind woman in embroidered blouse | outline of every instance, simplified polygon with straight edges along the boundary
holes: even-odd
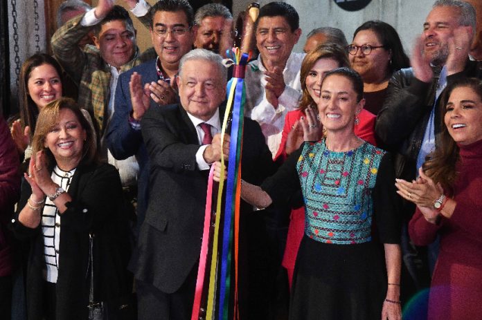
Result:
[[[303,143],[303,129],[298,124],[298,120],[305,115],[307,108],[312,108],[317,112],[316,104],[321,94],[321,82],[325,73],[342,66],[349,67],[350,62],[348,61],[346,51],[337,44],[321,44],[307,53],[305,59],[303,59],[303,64],[301,64],[300,73],[303,97],[298,109],[289,111],[285,117],[281,144],[275,160],[278,157],[282,157],[284,160],[289,153],[298,149]],[[355,122],[355,134],[359,138],[375,144],[375,115],[362,109],[357,115]],[[321,138],[323,134],[321,125],[319,133]],[[296,254],[298,253],[298,247],[303,238],[305,227],[304,207],[293,209],[290,218],[285,255],[283,256],[283,267],[287,270],[289,287],[291,288]]]

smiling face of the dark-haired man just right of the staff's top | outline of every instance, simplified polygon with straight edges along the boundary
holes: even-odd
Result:
[[[301,29],[292,31],[285,17],[261,17],[256,28],[256,46],[265,68],[284,68],[300,35]]]

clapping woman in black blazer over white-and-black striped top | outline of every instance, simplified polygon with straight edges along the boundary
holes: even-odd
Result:
[[[95,237],[96,302],[114,305],[127,290],[120,178],[98,162],[91,125],[69,98],[40,110],[32,145],[14,223],[17,236],[32,239],[28,319],[87,319],[89,234]]]

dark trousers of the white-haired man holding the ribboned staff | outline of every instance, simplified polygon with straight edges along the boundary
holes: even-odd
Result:
[[[197,263],[172,294],[136,279],[138,320],[189,320],[193,311]]]

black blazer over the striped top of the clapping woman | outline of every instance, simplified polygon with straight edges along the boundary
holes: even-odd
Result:
[[[46,269],[42,226],[31,229],[18,222],[32,190],[24,181],[17,218],[13,223],[19,238],[30,238],[27,270],[28,319],[42,319]],[[60,261],[56,284],[56,319],[87,319],[89,302],[89,232],[94,234],[94,296],[97,301],[120,304],[129,292],[127,262],[130,245],[127,211],[117,169],[110,164],[80,164],[71,180],[72,197],[60,217]],[[131,280],[132,281],[132,280]]]

